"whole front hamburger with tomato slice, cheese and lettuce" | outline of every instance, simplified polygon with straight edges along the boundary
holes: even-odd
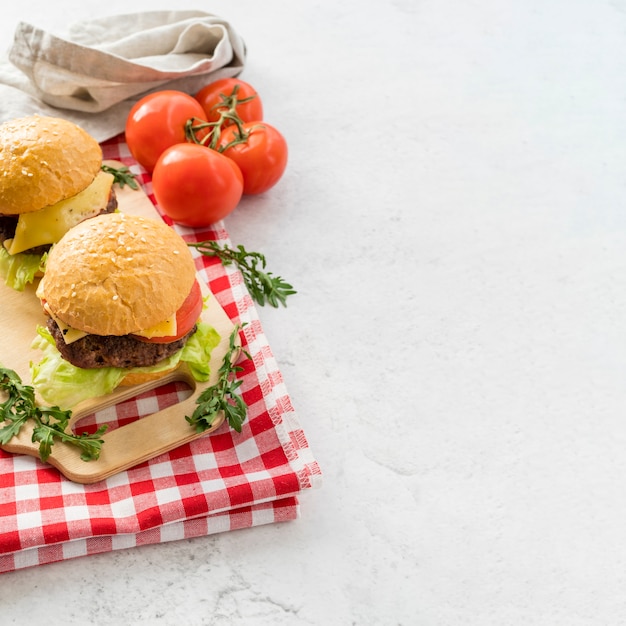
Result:
[[[33,385],[71,408],[119,385],[163,378],[186,363],[208,380],[219,334],[201,319],[204,297],[185,241],[162,220],[123,213],[72,228],[50,250],[37,296],[46,324]]]

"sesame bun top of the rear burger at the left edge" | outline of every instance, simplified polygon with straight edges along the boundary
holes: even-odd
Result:
[[[0,125],[0,214],[38,211],[75,196],[96,177],[102,149],[67,120],[30,115]]]

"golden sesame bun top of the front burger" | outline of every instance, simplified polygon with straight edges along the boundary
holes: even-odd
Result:
[[[194,281],[191,252],[173,228],[111,213],[75,226],[52,248],[38,293],[72,328],[121,336],[174,315]]]

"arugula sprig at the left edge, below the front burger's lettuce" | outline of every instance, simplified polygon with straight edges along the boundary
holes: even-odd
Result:
[[[7,394],[7,399],[0,403],[0,444],[8,443],[15,437],[29,420],[35,422],[32,442],[39,443],[39,457],[47,461],[55,439],[77,446],[81,450],[83,461],[95,461],[100,456],[100,439],[106,431],[106,425],[95,433],[74,435],[66,432],[71,411],[59,407],[40,407],[35,403],[35,390],[22,384],[22,379],[13,370],[0,367],[0,390]]]

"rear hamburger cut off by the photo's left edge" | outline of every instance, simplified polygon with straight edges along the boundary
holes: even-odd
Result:
[[[117,208],[102,149],[67,120],[31,115],[0,125],[0,273],[22,291],[72,226]]]

